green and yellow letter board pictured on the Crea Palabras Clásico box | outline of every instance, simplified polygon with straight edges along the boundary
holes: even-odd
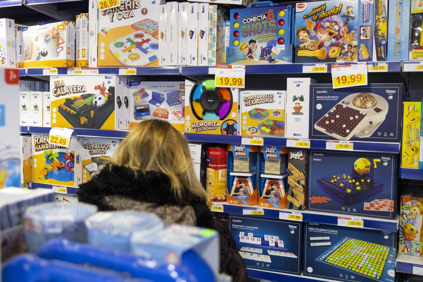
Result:
[[[381,280],[385,268],[395,268],[395,252],[395,248],[344,237],[316,260]]]

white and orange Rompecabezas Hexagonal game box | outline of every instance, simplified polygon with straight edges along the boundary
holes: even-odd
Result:
[[[285,91],[241,91],[243,136],[284,137]]]

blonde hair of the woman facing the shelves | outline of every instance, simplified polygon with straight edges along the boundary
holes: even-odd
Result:
[[[180,204],[184,203],[183,192],[189,191],[211,205],[194,173],[187,140],[165,120],[138,123],[116,149],[112,163],[128,167],[135,173],[162,172],[169,177]]]

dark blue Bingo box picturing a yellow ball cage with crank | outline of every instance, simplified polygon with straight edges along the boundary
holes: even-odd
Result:
[[[307,210],[394,219],[397,155],[310,150]]]

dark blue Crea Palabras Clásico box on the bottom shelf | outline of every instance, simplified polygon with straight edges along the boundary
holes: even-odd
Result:
[[[327,281],[395,281],[396,232],[304,225],[303,275]]]

